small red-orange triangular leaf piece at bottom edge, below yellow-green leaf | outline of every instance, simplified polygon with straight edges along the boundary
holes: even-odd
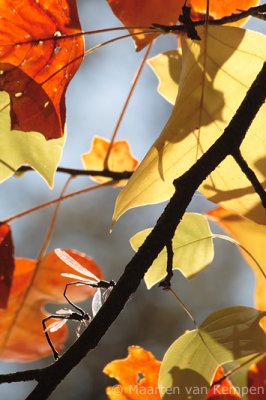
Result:
[[[224,370],[219,367],[215,373],[213,382],[219,381],[224,376]],[[223,379],[220,384],[215,385],[209,390],[206,400],[238,400],[241,399],[238,391],[229,379]]]

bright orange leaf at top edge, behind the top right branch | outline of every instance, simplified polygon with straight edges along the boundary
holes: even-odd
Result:
[[[254,7],[259,4],[259,0],[210,0],[210,16],[215,19],[219,19],[232,14],[237,14],[239,10],[248,10],[250,7]],[[206,0],[190,0],[190,5],[195,13],[206,13],[207,7]],[[193,18],[198,20],[199,18]],[[247,18],[241,19],[237,22],[233,22],[230,25],[242,26],[247,21]]]

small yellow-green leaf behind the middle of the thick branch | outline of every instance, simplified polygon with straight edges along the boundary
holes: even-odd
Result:
[[[143,244],[152,231],[145,229],[130,239],[135,251]],[[206,218],[200,214],[186,213],[178,225],[173,237],[173,269],[178,269],[186,278],[206,268],[213,260],[214,251],[211,231]],[[150,289],[166,275],[167,251],[161,251],[145,274],[145,283]]]

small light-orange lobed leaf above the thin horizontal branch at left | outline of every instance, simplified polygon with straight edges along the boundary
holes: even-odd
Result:
[[[104,160],[110,146],[110,141],[99,136],[92,139],[91,149],[88,153],[82,154],[82,161],[85,169],[102,171]],[[110,156],[108,158],[109,169],[113,172],[134,171],[138,161],[131,154],[129,144],[126,140],[117,140],[113,143]],[[96,182],[104,183],[110,178],[91,177]],[[127,180],[120,181],[116,186],[124,186]]]

